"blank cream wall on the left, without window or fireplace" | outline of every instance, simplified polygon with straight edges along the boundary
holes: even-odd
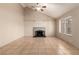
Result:
[[[24,15],[19,4],[0,4],[0,47],[24,36]]]

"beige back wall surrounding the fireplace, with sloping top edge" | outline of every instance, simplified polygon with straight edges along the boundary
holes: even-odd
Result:
[[[46,36],[55,35],[55,20],[30,8],[25,9],[25,36],[33,36],[33,27],[45,27]]]

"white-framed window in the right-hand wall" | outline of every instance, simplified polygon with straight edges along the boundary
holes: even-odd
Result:
[[[59,33],[72,35],[72,16],[59,20]]]

